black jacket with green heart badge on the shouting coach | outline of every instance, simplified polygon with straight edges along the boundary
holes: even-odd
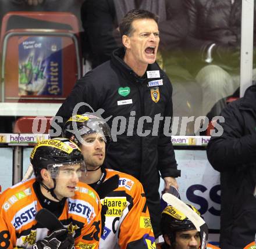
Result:
[[[137,134],[140,132],[137,132],[137,123],[140,117],[145,117],[140,122],[144,122],[143,130],[146,133],[148,133],[146,130],[153,130],[154,119],[157,122],[158,116],[172,117],[172,85],[157,63],[149,65],[147,71],[159,71],[159,78],[139,78],[123,62],[121,59],[123,55],[123,49],[115,50],[111,61],[84,75],[74,86],[56,116],[63,117],[63,122],[65,122],[72,116],[74,106],[79,102],[90,104],[94,111],[104,109],[102,117],[112,117],[108,121],[110,127],[112,127],[112,122],[116,124],[117,120],[119,120],[119,124],[122,120],[121,129],[125,124],[125,131],[117,135],[117,142],[113,142],[108,147],[107,163],[111,164],[113,168],[120,169],[122,167],[123,172],[137,178],[140,178],[140,173],[145,175],[145,172],[152,168],[159,169],[162,176],[179,176],[172,142],[170,137],[163,135],[163,120],[159,121],[159,125],[155,124],[154,133],[157,135],[152,136],[152,132],[147,136]],[[163,84],[158,86],[159,100],[155,102],[151,96],[151,90],[154,87],[149,87],[148,82],[161,79]],[[122,94],[125,95],[119,93],[122,90],[130,91],[130,93],[127,96],[122,96]],[[124,100],[128,102],[130,100],[132,103],[124,104]],[[79,113],[86,111],[91,112],[92,110],[86,106],[79,109]],[[113,120],[118,116],[119,119]],[[131,132],[131,126],[128,127],[128,124],[133,116],[135,122]],[[63,123],[60,125],[63,126]],[[166,127],[169,127],[168,121],[166,121]],[[129,128],[128,133],[127,128]],[[119,130],[119,125],[117,129]]]

